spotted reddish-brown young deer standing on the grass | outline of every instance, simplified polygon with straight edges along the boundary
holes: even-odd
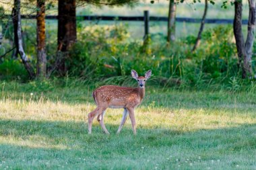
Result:
[[[89,134],[92,133],[92,120],[94,120],[96,116],[98,116],[97,120],[100,122],[100,126],[104,132],[109,134],[108,130],[106,130],[106,126],[104,125],[104,114],[106,112],[106,108],[124,108],[123,118],[119,129],[117,130],[117,134],[119,134],[123,124],[125,124],[128,114],[131,119],[133,133],[136,134],[134,109],[141,103],[145,96],[145,83],[150,79],[151,70],[145,74],[145,77],[139,77],[136,71],[131,70],[131,76],[133,79],[136,79],[138,83],[137,88],[104,85],[98,87],[98,89],[92,93],[97,108],[88,115]]]

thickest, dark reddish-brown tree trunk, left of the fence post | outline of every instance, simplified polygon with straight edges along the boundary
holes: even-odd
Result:
[[[65,58],[69,57],[69,49],[76,41],[75,0],[59,0],[58,19],[58,52],[63,52],[58,70],[65,75]]]

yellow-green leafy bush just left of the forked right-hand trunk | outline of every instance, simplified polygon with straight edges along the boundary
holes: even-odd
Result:
[[[203,44],[197,50],[197,63],[201,71],[216,79],[237,73],[236,46],[232,42],[232,28],[218,26],[203,33]],[[201,63],[202,62],[202,63]]]

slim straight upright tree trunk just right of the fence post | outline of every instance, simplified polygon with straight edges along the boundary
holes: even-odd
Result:
[[[175,40],[176,1],[170,0],[167,25],[167,42]]]

